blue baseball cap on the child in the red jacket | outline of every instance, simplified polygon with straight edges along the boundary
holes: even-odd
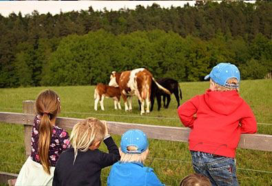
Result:
[[[213,67],[213,70],[211,70],[211,72],[205,76],[205,80],[209,78],[211,78],[218,85],[230,88],[239,88],[240,72],[236,65],[231,63],[219,63]],[[238,85],[227,83],[227,81],[231,78],[236,78]]]

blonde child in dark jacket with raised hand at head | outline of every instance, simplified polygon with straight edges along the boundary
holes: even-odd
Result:
[[[104,141],[109,154],[98,147]],[[76,123],[71,145],[56,163],[53,185],[101,185],[101,169],[120,160],[118,147],[107,132],[107,123],[87,118]]]

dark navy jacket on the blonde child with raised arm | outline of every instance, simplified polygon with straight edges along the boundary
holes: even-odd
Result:
[[[101,169],[120,160],[118,147],[112,137],[105,139],[104,143],[109,153],[101,152],[99,149],[79,151],[75,162],[73,148],[63,152],[56,162],[53,186],[101,185]]]

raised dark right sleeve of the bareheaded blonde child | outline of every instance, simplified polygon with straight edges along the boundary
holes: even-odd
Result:
[[[113,165],[114,163],[120,160],[118,147],[114,143],[114,140],[112,139],[112,137],[106,138],[104,140],[104,143],[107,146],[109,153],[101,152],[100,154],[100,162],[101,162],[102,168]]]

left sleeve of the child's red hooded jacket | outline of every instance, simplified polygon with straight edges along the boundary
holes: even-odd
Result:
[[[193,128],[196,120],[194,114],[198,111],[199,96],[195,96],[178,107],[178,116],[185,127]]]

